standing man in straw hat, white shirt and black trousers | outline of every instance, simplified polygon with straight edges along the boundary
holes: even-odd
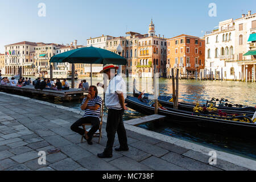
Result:
[[[115,148],[115,151],[129,150],[126,130],[123,125],[123,112],[127,110],[125,104],[126,84],[121,75],[115,75],[117,69],[118,67],[115,67],[113,64],[107,64],[100,72],[108,75],[110,82],[105,93],[105,105],[108,107],[108,120],[106,123],[108,142],[104,152],[98,154],[99,158],[112,158],[112,148],[116,132],[120,147]],[[100,83],[97,85],[100,86]],[[104,88],[104,85],[102,88]]]

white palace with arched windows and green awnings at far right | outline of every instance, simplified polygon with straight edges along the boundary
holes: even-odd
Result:
[[[254,80],[255,55],[246,55],[254,49],[249,40],[256,31],[256,14],[228,19],[219,23],[216,30],[205,34],[205,70],[208,75],[224,80]],[[255,40],[254,40],[255,41]],[[247,69],[247,71],[246,71]],[[246,76],[247,73],[247,76]]]

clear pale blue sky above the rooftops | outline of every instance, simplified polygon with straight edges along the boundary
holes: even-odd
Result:
[[[216,5],[216,16],[209,16],[210,3]],[[0,0],[0,52],[22,41],[70,44],[76,39],[86,46],[86,39],[102,34],[146,34],[151,18],[156,35],[201,37],[222,20],[256,13],[253,7],[255,0]]]

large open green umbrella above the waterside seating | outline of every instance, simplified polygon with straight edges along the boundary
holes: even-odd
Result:
[[[117,64],[126,65],[125,58],[105,49],[96,47],[82,47],[63,52],[51,57],[50,63],[74,64]]]

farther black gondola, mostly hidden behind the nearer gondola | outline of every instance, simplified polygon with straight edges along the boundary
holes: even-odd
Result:
[[[133,82],[133,96],[134,97],[142,97],[145,99],[152,99],[154,98],[154,95],[140,92],[136,89],[136,80],[134,79]],[[172,102],[172,96],[158,96],[158,102],[164,106],[164,107],[170,107],[174,108],[174,102]],[[216,106],[216,102],[219,102],[220,104]],[[218,110],[222,110],[225,113],[241,113],[241,114],[254,114],[256,111],[255,107],[250,106],[243,106],[238,104],[231,104],[231,102],[228,102],[228,100],[225,100],[222,98],[221,100],[218,100],[216,98],[212,98],[211,101],[207,101],[205,106],[209,106],[210,104],[213,104],[214,107],[216,107]],[[178,109],[180,110],[186,110],[186,111],[193,111],[193,108],[195,107],[195,104],[189,104],[185,102],[179,102]]]

